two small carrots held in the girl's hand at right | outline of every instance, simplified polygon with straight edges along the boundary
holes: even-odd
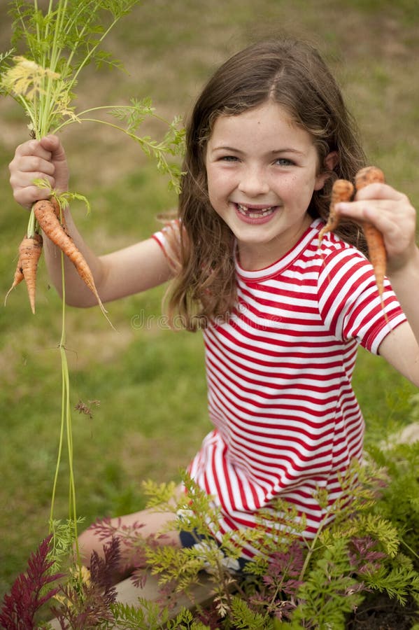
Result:
[[[361,169],[359,172],[357,172],[355,176],[355,189],[361,190],[361,188],[364,188],[364,186],[368,186],[369,184],[376,182],[385,182],[383,171],[374,166],[365,167],[364,169]],[[336,230],[339,225],[339,215],[336,214],[336,211],[334,209],[335,205],[339,202],[350,201],[353,196],[353,192],[354,187],[352,183],[350,183],[350,181],[346,181],[346,179],[337,179],[334,182],[329,208],[329,217],[325,227],[320,230],[319,244],[321,243],[323,236],[327,232]],[[367,241],[369,260],[374,268],[378,294],[382,299],[384,290],[385,267],[387,262],[383,235],[381,235],[381,232],[379,232],[374,227],[374,225],[371,225],[371,223],[367,223],[367,221],[364,221],[362,223],[362,230],[364,231],[365,239]]]

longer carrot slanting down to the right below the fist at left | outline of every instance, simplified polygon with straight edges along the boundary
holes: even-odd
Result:
[[[64,226],[59,221],[59,206],[57,200],[52,197],[50,200],[40,200],[33,206],[34,215],[39,226],[46,236],[61,249],[62,252],[73,262],[78,275],[90,288],[94,297],[96,297],[99,307],[106,313],[104,305],[101,302],[97,288],[94,284],[92,272],[85,260],[83,254],[73,242],[73,239],[67,235]]]

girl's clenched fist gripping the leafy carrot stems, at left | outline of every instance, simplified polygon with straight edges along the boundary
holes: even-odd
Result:
[[[68,190],[69,167],[59,138],[45,136],[20,144],[10,162],[10,185],[13,197],[24,208],[41,199],[48,199],[48,189],[35,186],[35,179],[46,179],[57,193]]]

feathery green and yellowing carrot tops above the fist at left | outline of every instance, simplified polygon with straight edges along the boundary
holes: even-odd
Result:
[[[12,0],[13,48],[0,54],[0,94],[13,97],[22,107],[29,118],[29,134],[36,139],[86,120],[125,132],[155,158],[159,171],[169,176],[169,186],[178,190],[180,169],[171,158],[183,153],[180,118],[171,122],[160,118],[148,97],[80,112],[73,105],[85,66],[94,62],[122,67],[102,44],[137,4],[139,0],[50,0],[43,12],[38,0]],[[111,120],[103,118],[106,114]],[[166,123],[168,130],[161,141],[138,133],[148,117]],[[31,216],[27,236],[33,237],[36,231]]]

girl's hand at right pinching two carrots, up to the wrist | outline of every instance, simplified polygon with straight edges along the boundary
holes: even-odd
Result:
[[[371,183],[358,190],[353,202],[341,202],[335,209],[353,221],[372,223],[381,232],[388,275],[416,256],[416,211],[406,195],[388,184]]]

